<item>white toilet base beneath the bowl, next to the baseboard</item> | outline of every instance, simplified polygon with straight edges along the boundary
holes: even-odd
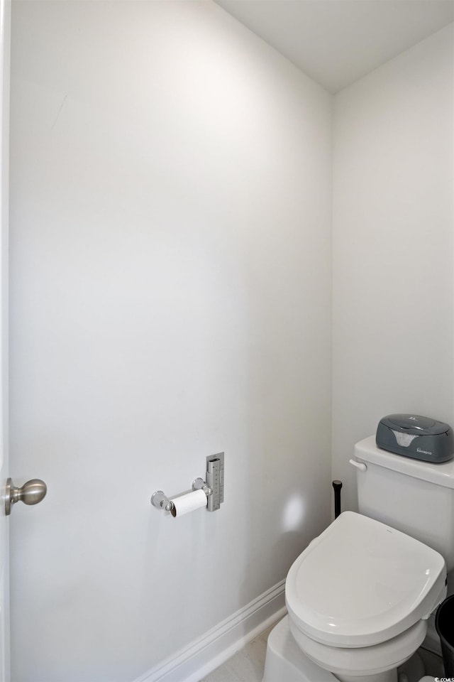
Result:
[[[307,658],[294,641],[285,616],[270,632],[262,682],[339,682]],[[357,678],[359,682],[360,678]],[[421,682],[433,680],[425,677]]]

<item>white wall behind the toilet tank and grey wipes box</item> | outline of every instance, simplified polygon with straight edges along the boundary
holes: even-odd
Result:
[[[333,478],[382,416],[454,424],[453,26],[336,95]]]

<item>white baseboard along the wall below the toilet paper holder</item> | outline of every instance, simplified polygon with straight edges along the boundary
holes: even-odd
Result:
[[[134,682],[199,682],[286,614],[285,580]]]

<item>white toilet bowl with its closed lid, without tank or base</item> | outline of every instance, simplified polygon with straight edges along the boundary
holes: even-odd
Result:
[[[443,557],[345,511],[287,575],[289,627],[301,651],[341,682],[392,682],[445,597]]]

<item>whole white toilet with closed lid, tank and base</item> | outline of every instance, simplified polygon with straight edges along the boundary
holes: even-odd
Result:
[[[397,682],[454,567],[454,462],[355,445],[358,508],[294,561],[263,682]]]

